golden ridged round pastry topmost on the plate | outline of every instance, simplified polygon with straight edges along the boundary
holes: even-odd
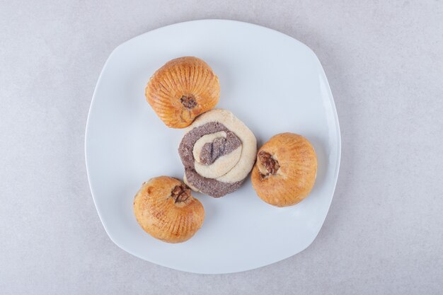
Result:
[[[189,126],[219,102],[219,79],[197,57],[179,57],[158,69],[146,86],[146,100],[160,119],[173,128]]]

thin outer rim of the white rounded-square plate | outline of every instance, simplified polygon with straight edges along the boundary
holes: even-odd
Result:
[[[91,183],[91,173],[89,171],[90,168],[88,167],[88,138],[89,138],[88,137],[88,130],[90,129],[89,125],[90,125],[90,118],[91,118],[91,110],[93,109],[93,105],[96,103],[96,93],[97,93],[97,89],[99,88],[100,83],[102,81],[103,73],[104,73],[106,67],[108,66],[108,63],[109,63],[111,57],[113,57],[113,55],[118,50],[118,48],[120,48],[122,45],[127,44],[127,42],[130,42],[130,41],[135,40],[137,38],[143,37],[144,35],[152,33],[154,31],[163,30],[163,29],[169,28],[171,26],[183,25],[185,23],[205,23],[205,22],[213,22],[213,23],[238,23],[240,25],[249,25],[251,27],[257,27],[257,28],[260,28],[262,30],[263,29],[264,30],[270,30],[273,33],[277,33],[278,35],[282,35],[284,37],[290,38],[292,41],[297,42],[300,45],[306,47],[306,49],[309,50],[309,52],[311,52],[311,54],[313,54],[313,57],[316,58],[318,64],[320,65],[319,66],[319,71],[321,71],[321,75],[322,75],[323,81],[326,83],[326,86],[327,86],[326,90],[328,92],[328,98],[330,100],[330,105],[331,105],[332,110],[333,110],[333,117],[334,117],[334,122],[335,122],[335,125],[336,125],[336,128],[334,128],[334,129],[335,129],[335,136],[336,136],[336,142],[337,142],[337,159],[336,159],[336,163],[335,163],[335,170],[333,171],[333,192],[332,192],[332,197],[330,198],[330,200],[328,202],[328,211],[326,212],[325,216],[323,217],[323,221],[321,223],[321,227],[320,227],[320,229],[318,229],[318,232],[316,233],[316,235],[313,236],[312,240],[306,245],[305,248],[303,248],[302,250],[299,250],[297,253],[288,255],[287,257],[281,258],[279,260],[275,260],[274,262],[265,263],[264,265],[259,265],[259,266],[256,266],[256,267],[248,267],[248,268],[246,268],[244,270],[233,270],[233,271],[229,271],[229,272],[217,272],[217,271],[216,272],[198,272],[198,271],[192,271],[192,270],[185,270],[183,267],[171,267],[169,265],[164,265],[161,262],[153,262],[151,260],[146,260],[145,258],[142,258],[140,255],[137,255],[137,253],[133,253],[131,250],[127,250],[127,248],[124,248],[122,245],[120,245],[120,243],[117,243],[117,241],[115,241],[113,236],[110,234],[108,226],[106,225],[105,222],[103,222],[102,213],[100,212],[100,209],[97,206],[93,185]],[[284,33],[280,32],[278,30],[267,28],[267,27],[265,27],[263,25],[257,25],[255,23],[248,23],[248,22],[243,22],[243,21],[235,21],[235,20],[220,19],[220,18],[207,18],[207,19],[199,19],[199,20],[193,20],[193,21],[183,21],[183,22],[179,22],[179,23],[172,23],[172,24],[169,24],[169,25],[164,25],[162,27],[155,28],[153,30],[149,30],[149,31],[147,31],[145,33],[142,33],[140,35],[134,36],[134,37],[126,40],[125,42],[120,43],[120,45],[117,45],[117,47],[115,47],[114,50],[109,54],[108,58],[106,59],[105,63],[103,64],[103,67],[102,67],[102,69],[100,71],[100,75],[98,76],[98,80],[97,80],[96,86],[94,88],[93,95],[92,95],[92,98],[91,98],[91,103],[90,103],[89,109],[88,109],[88,117],[86,119],[86,127],[85,127],[85,135],[84,135],[84,137],[85,137],[85,139],[84,139],[84,154],[85,154],[85,164],[86,164],[86,175],[88,177],[89,189],[91,190],[91,196],[93,198],[94,206],[96,207],[96,211],[98,213],[98,217],[100,219],[100,222],[103,225],[103,228],[105,229],[105,232],[108,235],[108,237],[110,238],[110,240],[113,241],[113,243],[115,245],[117,245],[117,247],[119,247],[120,249],[122,249],[125,252],[130,253],[131,255],[134,255],[135,257],[137,257],[139,259],[142,259],[142,260],[144,260],[146,262],[154,263],[154,264],[160,265],[162,267],[167,267],[168,269],[171,269],[171,270],[178,270],[178,271],[181,271],[181,272],[189,272],[189,273],[195,273],[195,274],[231,274],[231,273],[238,273],[238,272],[246,272],[246,271],[249,271],[249,270],[256,270],[256,269],[258,269],[260,267],[265,267],[267,265],[272,265],[272,264],[275,264],[275,263],[280,262],[282,260],[286,260],[288,258],[291,258],[292,256],[297,255],[297,254],[303,252],[304,250],[306,250],[306,248],[309,248],[309,246],[313,243],[313,241],[316,240],[316,238],[318,236],[318,233],[320,233],[321,229],[323,228],[324,222],[326,220],[326,216],[328,216],[329,209],[330,209],[330,204],[332,203],[332,200],[334,198],[335,189],[336,189],[337,183],[338,183],[338,175],[340,173],[340,162],[341,162],[341,154],[342,154],[340,122],[338,121],[338,112],[337,112],[337,109],[335,107],[335,100],[333,98],[333,93],[330,90],[329,81],[328,81],[326,73],[325,73],[325,71],[323,69],[323,65],[321,64],[320,59],[318,59],[316,53],[313,52],[313,50],[311,50],[311,48],[308,45],[306,45],[303,42],[295,39],[292,36],[289,36],[287,34],[284,34]]]

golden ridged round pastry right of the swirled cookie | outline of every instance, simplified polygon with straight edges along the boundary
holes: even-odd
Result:
[[[257,195],[268,204],[287,207],[311,192],[317,174],[317,156],[298,134],[277,134],[259,149],[251,180]]]

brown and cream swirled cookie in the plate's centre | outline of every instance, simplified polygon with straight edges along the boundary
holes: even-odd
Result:
[[[257,141],[229,110],[205,112],[185,129],[178,154],[184,181],[212,197],[234,192],[254,165]]]

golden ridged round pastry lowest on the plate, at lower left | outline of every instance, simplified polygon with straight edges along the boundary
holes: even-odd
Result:
[[[187,241],[205,219],[205,209],[189,187],[168,176],[143,183],[134,198],[134,214],[146,233],[168,243]]]

